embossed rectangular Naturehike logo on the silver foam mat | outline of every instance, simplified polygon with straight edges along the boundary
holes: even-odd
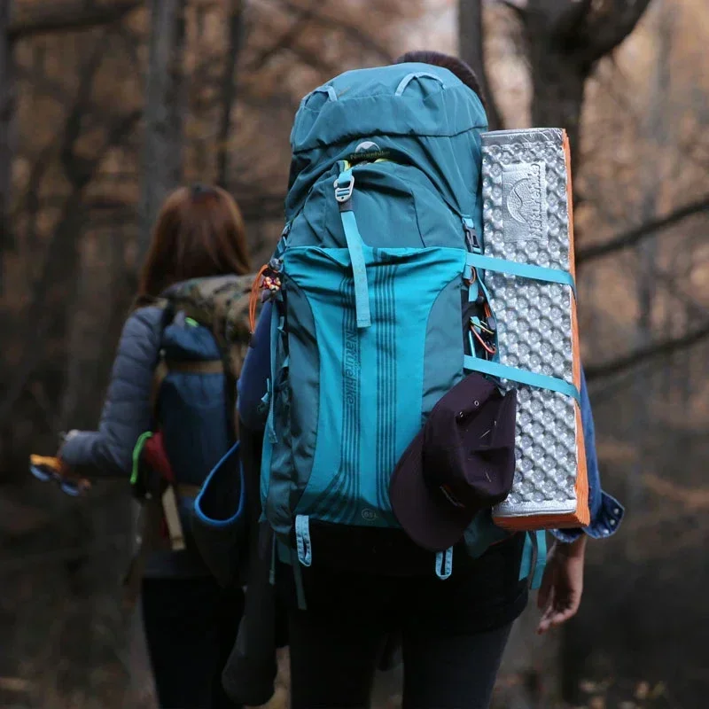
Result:
[[[503,206],[511,219],[503,228],[505,241],[541,239],[547,230],[546,170],[543,163],[503,166]]]

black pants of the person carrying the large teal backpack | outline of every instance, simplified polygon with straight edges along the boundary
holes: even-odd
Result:
[[[522,540],[523,541],[523,540]],[[316,556],[313,541],[313,557]],[[298,610],[292,568],[278,568],[289,608],[291,709],[368,707],[388,634],[401,634],[404,709],[487,709],[514,619],[526,605],[521,541],[483,557],[454,558],[440,580],[302,568]]]

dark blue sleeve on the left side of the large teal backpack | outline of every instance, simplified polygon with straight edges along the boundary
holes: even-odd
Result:
[[[271,302],[261,310],[251,347],[246,353],[241,376],[238,378],[238,415],[252,431],[262,431],[266,426],[268,410],[262,399],[266,395],[270,377]]]

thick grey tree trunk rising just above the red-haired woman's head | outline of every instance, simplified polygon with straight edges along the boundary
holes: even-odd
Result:
[[[150,244],[160,205],[183,174],[183,46],[185,0],[151,0],[145,89],[143,189],[138,255]]]

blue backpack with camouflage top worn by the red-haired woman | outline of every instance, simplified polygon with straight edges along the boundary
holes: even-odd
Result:
[[[233,558],[245,556],[244,549],[236,549],[245,546],[246,519],[235,403],[236,381],[248,347],[252,282],[253,275],[197,278],[164,293],[152,392],[153,430],[144,433],[134,451],[133,481],[139,485],[141,469],[150,468],[145,453],[160,440],[156,448],[162,451],[158,457],[164,464],[152,471],[152,485],[157,484],[158,473],[160,486],[169,484],[175,492],[179,523],[163,510],[172,547],[199,550],[215,575],[215,556],[229,557],[229,563],[221,565],[230,568]],[[160,436],[148,443],[155,433]],[[205,494],[210,472],[212,485]],[[200,500],[208,518],[199,514]],[[169,529],[171,521],[179,527],[177,534]],[[216,528],[220,534],[214,534]],[[224,534],[228,542],[223,541]],[[229,549],[214,549],[217,542]]]

